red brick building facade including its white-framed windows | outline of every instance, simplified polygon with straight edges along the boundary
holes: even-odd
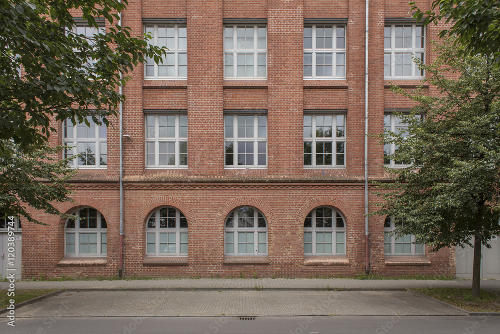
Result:
[[[389,92],[389,82],[411,89],[422,78],[408,54],[434,57],[438,28],[420,29],[408,11],[406,0],[369,2],[369,134],[411,107]],[[365,2],[142,0],[122,25],[150,31],[170,53],[166,67],[137,67],[123,90],[123,274],[364,273]],[[48,226],[24,223],[23,278],[118,274],[119,128],[110,121],[92,142],[106,165],[81,166],[75,203],[59,204],[91,208],[79,212],[97,227],[40,214]],[[51,140],[67,142],[57,126]],[[377,142],[368,139],[370,179],[386,177]],[[454,274],[453,250],[384,242],[384,220],[368,221],[371,273]]]

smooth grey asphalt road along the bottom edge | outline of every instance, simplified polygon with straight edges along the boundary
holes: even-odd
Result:
[[[0,321],[1,333],[326,334],[499,333],[499,316],[35,317]]]

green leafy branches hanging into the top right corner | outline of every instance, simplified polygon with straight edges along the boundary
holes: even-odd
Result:
[[[464,55],[493,55],[500,62],[500,1],[497,0],[434,0],[430,10],[421,11],[410,2],[413,18],[427,26],[439,21],[450,23],[439,32],[439,38],[456,35],[456,44]]]

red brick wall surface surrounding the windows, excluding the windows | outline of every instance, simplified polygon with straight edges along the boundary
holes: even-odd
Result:
[[[428,1],[417,2],[428,8]],[[407,1],[370,2],[369,126],[383,128],[384,109],[408,108],[408,101],[389,92],[383,79],[385,18],[409,18]],[[131,2],[123,24],[142,34],[141,17],[187,22],[187,80],[144,80],[142,66],[124,89],[124,274],[126,276],[349,276],[364,272],[364,1],[362,0],[176,0]],[[223,80],[223,20],[265,19],[267,80]],[[303,80],[304,19],[346,21],[346,78]],[[248,21],[247,21],[248,22]],[[437,28],[427,29],[427,40]],[[433,58],[427,43],[427,60]],[[414,80],[402,81],[413,89]],[[429,94],[435,89],[428,88]],[[144,168],[143,110],[183,109],[188,115],[188,169]],[[267,168],[224,169],[223,111],[267,111]],[[302,115],[307,109],[342,109],[346,114],[346,168],[302,167]],[[118,122],[108,128],[107,170],[81,170],[74,182],[74,203],[58,204],[63,212],[81,206],[99,210],[107,221],[108,251],[104,265],[67,265],[64,220],[37,214],[47,226],[23,222],[23,278],[37,276],[112,276],[118,271],[119,191]],[[60,141],[57,134],[53,139]],[[368,140],[370,177],[383,177],[382,147]],[[378,201],[370,195],[370,202]],[[188,221],[186,263],[147,265],[145,222],[159,206],[173,206]],[[224,260],[223,225],[235,207],[251,205],[268,222],[266,263]],[[328,265],[304,262],[303,222],[313,208],[328,205],[346,222],[346,256]],[[370,206],[370,209],[375,209]],[[371,272],[381,275],[454,274],[454,252],[430,253],[429,263],[389,265],[383,250],[383,219],[369,218]]]

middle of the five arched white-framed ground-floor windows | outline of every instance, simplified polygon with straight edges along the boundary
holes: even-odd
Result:
[[[224,222],[224,255],[267,255],[267,221],[258,209],[241,206]]]

